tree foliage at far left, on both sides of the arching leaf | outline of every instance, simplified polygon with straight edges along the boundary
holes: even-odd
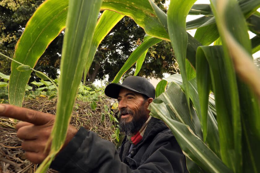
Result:
[[[0,52],[13,57],[15,44],[22,35],[24,27],[42,0],[1,0],[0,1]],[[56,78],[59,69],[63,33],[61,33],[46,49],[35,69]],[[11,61],[0,59],[0,71],[10,74]],[[31,80],[35,74],[32,73]]]

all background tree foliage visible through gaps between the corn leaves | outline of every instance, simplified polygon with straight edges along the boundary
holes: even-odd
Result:
[[[24,27],[33,12],[42,3],[41,0],[0,0],[0,52],[13,57],[15,44],[21,36]],[[165,0],[155,3],[167,11],[163,5]],[[34,69],[45,72],[51,78],[56,78],[61,57],[63,32],[53,40],[41,56]],[[124,17],[111,30],[98,47],[94,61],[90,67],[87,80],[94,82],[108,74],[112,81],[132,51],[143,42],[144,30],[132,19]],[[11,62],[0,59],[0,72],[10,74]],[[152,46],[145,57],[139,76],[163,78],[163,73],[175,70],[176,60],[170,42],[162,41]],[[135,65],[126,75],[134,74]],[[31,80],[37,78],[32,73]]]

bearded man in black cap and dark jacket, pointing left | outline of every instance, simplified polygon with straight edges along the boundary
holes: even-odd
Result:
[[[155,97],[154,86],[145,78],[127,77],[122,85],[111,83],[105,94],[119,101],[119,126],[126,133],[117,151],[114,144],[92,131],[69,126],[63,149],[51,167],[60,172],[188,172],[185,156],[163,121],[149,116]],[[20,119],[17,136],[33,163],[41,163],[55,116],[0,105],[0,116]],[[50,146],[49,146],[50,148]],[[49,151],[49,149],[48,149]]]

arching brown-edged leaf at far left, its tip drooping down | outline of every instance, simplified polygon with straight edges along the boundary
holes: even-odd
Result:
[[[48,13],[46,13],[46,9]],[[37,9],[37,15],[26,24],[24,32],[15,46],[14,59],[30,67],[34,67],[50,42],[64,29],[68,9],[68,1],[46,0]],[[9,81],[9,103],[22,106],[25,88],[31,71],[20,72],[19,64],[11,63]]]

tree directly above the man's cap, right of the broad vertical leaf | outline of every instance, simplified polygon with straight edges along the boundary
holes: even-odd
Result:
[[[167,12],[167,7],[164,6],[165,0],[156,0],[155,3]],[[88,81],[102,79],[106,74],[109,75],[108,81],[112,81],[131,55],[132,50],[143,42],[144,36],[144,30],[129,17],[126,16],[119,21],[99,45],[89,70]],[[178,72],[175,64],[176,60],[170,42],[162,41],[148,50],[138,75],[163,78],[163,73]],[[125,75],[133,75],[134,70],[135,65]]]

